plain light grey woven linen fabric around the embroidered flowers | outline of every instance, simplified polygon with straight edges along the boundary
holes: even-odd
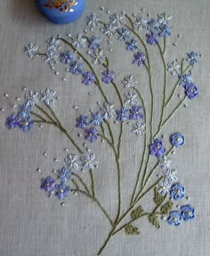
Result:
[[[85,29],[86,15],[92,12],[101,13],[101,5],[105,10],[118,12],[123,9],[131,13],[137,10],[141,12],[144,7],[151,16],[166,11],[174,17],[171,44],[178,41],[176,47],[170,46],[168,62],[182,57],[190,50],[203,54],[194,71],[200,97],[190,102],[189,108],[182,109],[165,131],[166,137],[177,130],[186,136],[187,144],[182,148],[182,153],[174,155],[174,168],[178,169],[178,177],[190,194],[190,203],[196,209],[197,219],[180,228],[162,223],[159,230],[143,219],[139,223],[140,236],[129,237],[124,233],[115,236],[103,255],[207,256],[210,251],[209,0],[87,0],[85,15],[76,23],[67,26],[57,26],[46,21],[36,10],[34,1],[0,1],[0,107],[5,109],[5,113],[0,112],[0,255],[93,256],[109,232],[108,222],[104,221],[101,212],[83,196],[72,196],[69,203],[61,207],[60,202],[49,199],[39,189],[40,179],[50,175],[51,170],[57,167],[52,161],[53,158],[65,157],[63,148],[70,149],[66,138],[54,128],[36,128],[23,134],[19,130],[10,131],[4,126],[6,116],[12,112],[15,97],[22,98],[22,87],[34,90],[46,87],[55,89],[61,97],[55,109],[61,120],[65,120],[72,130],[76,115],[93,108],[95,102],[101,100],[93,87],[81,87],[79,79],[73,79],[70,74],[66,76],[69,82],[64,83],[61,76],[54,76],[52,70],[40,59],[31,60],[22,53],[23,46],[29,42],[44,45],[44,41],[53,35],[66,35],[69,32],[75,35],[82,31]],[[182,40],[177,39],[178,33],[182,34]],[[111,58],[111,66],[118,72],[117,80],[121,81],[125,75],[134,73],[146,94],[146,74],[141,74],[137,68],[133,69],[133,65],[127,62],[128,53],[123,46],[117,47],[118,44],[112,45],[115,57]],[[158,60],[158,69],[158,52],[154,52],[152,58]],[[162,96],[158,87],[160,81],[161,71],[157,71],[155,82],[159,99]],[[93,92],[93,97],[87,95],[90,91]],[[4,93],[10,95],[8,100]],[[111,92],[109,95],[114,101]],[[73,110],[72,106],[75,104],[79,106],[79,111]],[[158,113],[158,106],[156,110]],[[129,199],[129,187],[134,182],[133,169],[137,169],[139,163],[133,154],[133,149],[137,152],[139,150],[134,143],[136,138],[129,136],[129,127],[125,130],[127,132],[123,144],[122,175],[127,186],[124,186],[124,207]],[[77,138],[75,129],[74,133]],[[81,139],[78,138],[78,142],[82,145]],[[112,187],[116,180],[115,169],[106,168],[108,159],[112,161],[113,156],[107,153],[106,145],[101,145],[101,148],[94,145],[91,148],[100,159],[100,169],[95,174],[98,182],[97,193],[102,195],[102,202],[114,216],[116,191]],[[49,154],[48,157],[43,156],[44,151]],[[39,167],[43,170],[41,174],[36,172]],[[144,203],[146,207],[149,205],[147,201]]]

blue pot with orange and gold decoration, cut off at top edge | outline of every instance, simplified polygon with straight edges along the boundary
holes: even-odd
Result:
[[[36,0],[37,7],[52,22],[76,21],[85,11],[85,0]]]

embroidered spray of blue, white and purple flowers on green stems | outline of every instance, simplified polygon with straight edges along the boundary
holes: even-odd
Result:
[[[56,1],[49,2],[55,4]],[[140,235],[143,232],[140,230],[141,219],[148,219],[152,226],[160,228],[161,221],[179,227],[183,222],[195,218],[195,210],[187,202],[189,197],[186,195],[185,187],[178,181],[177,170],[173,168],[174,153],[179,152],[183,145],[188,146],[188,141],[180,131],[172,133],[168,139],[161,135],[170,124],[170,120],[179,115],[182,107],[186,107],[188,101],[194,102],[198,98],[199,90],[193,81],[192,70],[197,65],[200,54],[190,51],[181,60],[167,61],[166,55],[170,56],[168,47],[172,33],[171,20],[172,17],[165,12],[149,20],[142,15],[136,18],[123,12],[110,14],[109,21],[106,22],[93,13],[87,17],[87,26],[91,32],[93,31],[90,37],[87,36],[85,29],[85,35],[78,33],[76,37],[69,34],[67,37],[48,39],[46,50],[39,49],[33,43],[25,46],[25,54],[37,62],[43,60],[55,75],[59,75],[55,70],[59,64],[64,72],[78,76],[83,86],[93,87],[93,90],[98,90],[101,95],[100,100],[103,103],[96,103],[96,111],[78,114],[75,128],[85,138],[85,147],[93,143],[106,143],[114,155],[117,173],[114,217],[102,205],[97,195],[100,191],[95,189],[97,180],[94,173],[100,168],[100,159],[97,153],[91,153],[90,150],[86,153],[72,135],[72,131],[58,118],[55,108],[58,97],[52,88],[45,88],[40,92],[26,90],[25,102],[6,120],[6,125],[10,129],[20,128],[28,132],[36,125],[52,126],[68,138],[74,152],[67,154],[61,169],[55,169],[53,175],[42,178],[41,189],[49,196],[60,200],[61,205],[67,202],[71,194],[81,194],[99,207],[101,214],[108,221],[110,230],[101,248],[96,252],[97,255],[102,255],[112,237],[119,235],[121,231],[126,235]],[[106,38],[109,45],[112,39],[125,48],[128,56],[126,60],[133,64],[133,69],[147,72],[149,83],[143,87],[147,87],[150,99],[146,100],[139,81],[133,74],[124,74],[123,80],[118,78],[107,53],[112,52],[111,49],[106,51],[101,46],[101,41]],[[64,51],[64,46],[68,50]],[[160,102],[157,102],[154,93],[156,73],[150,58],[150,53],[154,49],[158,50],[158,58],[163,65],[163,100]],[[96,66],[100,67],[100,71],[95,68]],[[171,85],[167,85],[168,76],[171,76],[171,83],[174,83],[172,89]],[[105,87],[113,88],[116,102],[110,102]],[[184,96],[176,97],[180,89]],[[155,106],[158,106],[160,111],[158,123],[154,122]],[[114,126],[117,126],[117,132],[114,132]],[[141,141],[142,150],[138,153],[141,162],[133,172],[136,178],[130,194],[130,203],[123,211],[122,186],[125,184],[122,184],[120,160],[125,133],[136,136],[137,142]],[[154,159],[156,164],[152,165],[151,161]],[[145,196],[153,202],[153,208],[149,211],[145,210],[141,202]],[[181,205],[177,205],[177,202]]]

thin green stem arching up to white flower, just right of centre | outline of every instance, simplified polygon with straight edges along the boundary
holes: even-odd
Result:
[[[139,90],[136,89],[135,87],[133,87],[133,90],[136,92],[136,94],[139,96],[139,98],[141,100],[143,111],[144,111],[144,120],[145,120],[145,123],[147,123],[146,107],[145,107],[144,101],[143,101],[143,99],[141,97],[141,94],[140,94]],[[136,189],[137,189],[139,181],[140,181],[141,169],[142,169],[143,163],[145,161],[146,142],[147,142],[147,133],[145,133],[145,136],[144,136],[144,146],[143,146],[143,154],[142,154],[142,158],[141,158],[141,165],[140,165],[139,172],[137,174],[137,178],[136,178],[136,182],[135,182],[135,186],[134,186],[134,190],[133,190],[133,194],[132,194],[132,199],[131,199],[130,205],[132,205],[132,203],[133,203],[133,198],[135,196]]]

